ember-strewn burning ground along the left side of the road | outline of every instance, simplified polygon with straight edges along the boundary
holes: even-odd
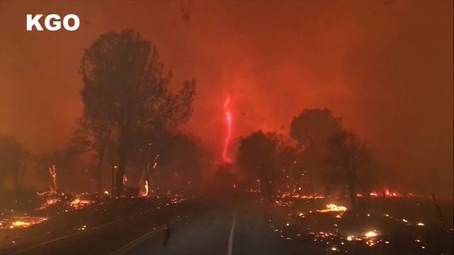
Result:
[[[87,231],[134,215],[157,213],[188,197],[111,198],[106,194],[48,191],[35,194],[33,208],[0,211],[0,254],[65,234]],[[179,205],[178,205],[179,206]]]

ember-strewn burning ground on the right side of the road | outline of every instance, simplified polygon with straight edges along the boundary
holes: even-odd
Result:
[[[380,194],[382,195],[382,194]],[[338,200],[287,198],[273,203],[272,232],[294,251],[311,254],[452,254],[452,221],[438,222],[433,201],[421,196],[359,197],[358,209]],[[382,197],[382,196],[381,196]],[[452,215],[452,200],[444,210]],[[272,220],[271,220],[272,219]]]

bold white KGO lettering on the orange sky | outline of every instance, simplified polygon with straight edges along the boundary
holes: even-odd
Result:
[[[33,27],[38,31],[43,31],[43,26],[41,26],[40,18],[43,17],[43,14],[36,14],[34,17],[32,14],[27,14],[27,31],[33,30]],[[72,20],[72,25],[70,21]],[[79,28],[80,21],[79,17],[75,14],[68,14],[63,18],[63,28],[68,31],[74,31]],[[60,16],[58,14],[49,14],[44,18],[44,26],[47,30],[57,31],[62,28],[62,22],[60,21]]]

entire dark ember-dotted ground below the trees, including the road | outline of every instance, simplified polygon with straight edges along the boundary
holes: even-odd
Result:
[[[428,198],[360,199],[355,213],[318,211],[343,199],[257,193],[84,198],[94,203],[53,205],[33,212],[48,216],[40,224],[0,229],[0,254],[453,254],[452,200],[440,200],[441,225]]]

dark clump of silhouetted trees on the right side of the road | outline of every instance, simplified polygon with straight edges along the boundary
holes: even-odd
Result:
[[[358,192],[369,193],[377,180],[377,162],[366,142],[345,130],[328,109],[305,109],[293,118],[289,136],[258,130],[241,137],[236,160],[260,191],[331,193],[346,190],[353,207]]]

